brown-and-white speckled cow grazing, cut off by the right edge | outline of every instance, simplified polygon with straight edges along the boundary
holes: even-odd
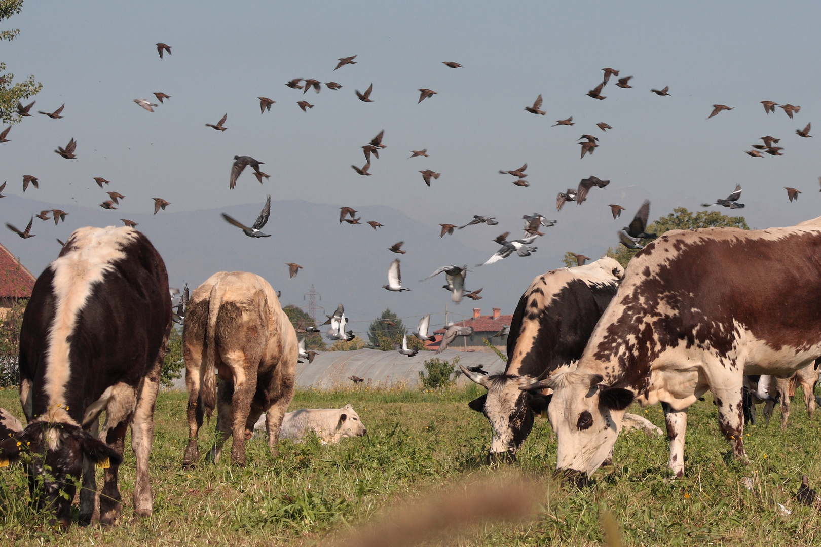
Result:
[[[769,230],[673,230],[648,244],[553,389],[557,468],[592,475],[633,399],[661,402],[669,466],[684,475],[687,408],[708,390],[736,458],[745,374],[789,375],[821,356],[821,217]]]

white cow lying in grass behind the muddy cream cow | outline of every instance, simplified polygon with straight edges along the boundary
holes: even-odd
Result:
[[[254,436],[265,430],[265,415],[254,424]],[[302,408],[286,413],[280,439],[300,441],[314,430],[322,444],[336,444],[342,437],[361,437],[368,432],[351,404],[342,408]],[[258,433],[259,431],[259,433]]]

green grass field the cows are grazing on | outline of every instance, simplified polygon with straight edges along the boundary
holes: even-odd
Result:
[[[482,390],[484,391],[484,390]],[[28,492],[21,467],[0,471],[2,545],[315,545],[328,534],[367,522],[384,508],[445,489],[466,477],[504,470],[480,465],[489,426],[466,402],[481,391],[300,391],[294,408],[352,403],[366,437],[336,446],[283,442],[276,457],[264,442],[249,443],[248,465],[229,458],[213,466],[181,469],[187,439],[186,395],[159,395],[151,453],[154,515],[131,513],[134,459],[127,440],[120,468],[121,522],[111,529],[72,526],[56,535],[43,518],[25,515]],[[612,512],[625,545],[819,545],[819,513],[795,500],[801,473],[821,484],[821,412],[810,421],[800,394],[787,431],[778,413],[769,426],[748,427],[750,465],[732,460],[718,433],[709,396],[691,408],[686,438],[686,477],[667,478],[667,440],[631,432],[617,440],[614,465],[581,489],[550,478],[556,447],[550,426],[537,420],[515,467],[540,477],[544,495],[534,517],[516,524],[476,526],[448,545],[601,545],[600,514]],[[16,390],[0,391],[0,406],[21,416]],[[646,411],[646,413],[645,413]],[[659,407],[632,407],[663,428]],[[200,435],[209,448],[213,426]],[[227,454],[226,454],[227,455]],[[754,490],[742,478],[750,477]],[[100,482],[100,480],[98,479]],[[791,510],[782,515],[777,504]]]

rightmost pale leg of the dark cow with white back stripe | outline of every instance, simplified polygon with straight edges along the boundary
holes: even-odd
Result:
[[[160,371],[162,370],[165,346],[161,349],[154,368],[144,377],[137,396],[134,420],[131,422],[131,449],[136,460],[136,480],[134,484],[134,512],[139,517],[150,517],[154,509],[149,476],[149,453],[154,444],[154,405],[157,403]]]

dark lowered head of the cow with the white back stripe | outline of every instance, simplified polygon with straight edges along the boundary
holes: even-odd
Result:
[[[0,459],[21,460],[29,475],[29,493],[37,510],[53,512],[63,528],[71,524],[71,502],[83,458],[94,463],[122,463],[122,457],[88,431],[66,423],[31,422],[0,442]]]

